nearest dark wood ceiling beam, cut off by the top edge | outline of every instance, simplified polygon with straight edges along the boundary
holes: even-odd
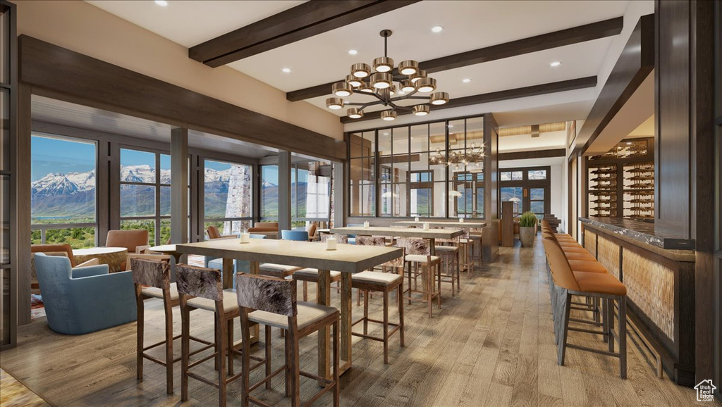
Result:
[[[307,1],[188,49],[188,57],[217,68],[420,0]]]

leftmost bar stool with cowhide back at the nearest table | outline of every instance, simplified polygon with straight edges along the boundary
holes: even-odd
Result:
[[[165,366],[166,393],[173,394],[173,363],[181,358],[173,359],[173,340],[181,338],[181,335],[173,336],[173,307],[180,305],[178,289],[175,283],[170,283],[170,255],[148,255],[129,254],[126,261],[126,268],[133,273],[133,283],[136,293],[136,306],[138,310],[137,332],[136,332],[136,378],[143,381],[143,359]],[[146,299],[160,298],[163,301],[165,311],[165,339],[144,346],[144,302]],[[204,343],[206,346],[194,351],[198,353],[213,346],[213,343],[199,338],[191,338],[193,341]],[[146,353],[149,349],[165,345],[165,361],[150,356]]]

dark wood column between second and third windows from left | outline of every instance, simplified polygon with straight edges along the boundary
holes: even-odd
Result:
[[[170,131],[170,242],[188,242],[188,128]]]

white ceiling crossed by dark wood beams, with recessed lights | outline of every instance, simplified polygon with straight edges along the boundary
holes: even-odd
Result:
[[[521,103],[518,110],[535,110],[535,118],[547,113],[547,121],[586,118],[596,91],[584,89],[596,88],[630,3],[170,0],[162,7],[153,1],[88,2],[187,47],[189,58],[199,63],[230,66],[287,92],[288,100],[339,115],[344,123],[352,122],[345,109],[326,109],[330,84],[349,74],[352,64],[383,56],[378,32],[384,29],[393,31],[388,56],[396,64],[419,61],[437,79],[438,90],[450,94],[444,108],[554,94],[547,110],[544,100]],[[439,25],[442,32],[431,31]],[[562,64],[553,68],[553,61]],[[367,108],[364,119],[378,118],[378,110],[385,108]],[[423,119],[432,120],[435,110]],[[500,111],[500,126],[539,123],[514,110]]]

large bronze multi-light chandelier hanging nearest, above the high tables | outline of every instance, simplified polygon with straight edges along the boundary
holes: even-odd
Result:
[[[373,60],[373,71],[368,64],[360,63],[351,66],[351,74],[346,76],[344,82],[336,82],[331,87],[335,97],[326,99],[326,107],[339,110],[345,106],[355,106],[346,110],[349,118],[363,117],[363,110],[369,106],[383,105],[391,108],[381,111],[381,118],[385,121],[396,119],[397,110],[411,111],[414,115],[429,114],[429,104],[443,105],[449,101],[446,92],[434,92],[436,79],[426,75],[426,71],[419,69],[419,63],[413,60],[401,61],[396,70],[393,69],[393,59],[388,58],[388,38],[391,30],[379,32],[383,37],[383,56]],[[354,94],[375,97],[366,103],[347,103],[342,99]],[[418,94],[428,94],[419,96]],[[423,100],[421,104],[401,106],[401,100]]]

